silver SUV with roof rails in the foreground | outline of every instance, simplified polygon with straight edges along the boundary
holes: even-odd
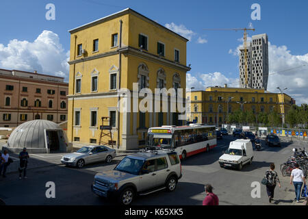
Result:
[[[175,151],[144,151],[127,155],[114,170],[97,173],[92,192],[129,205],[133,198],[166,189],[172,192],[182,177]]]

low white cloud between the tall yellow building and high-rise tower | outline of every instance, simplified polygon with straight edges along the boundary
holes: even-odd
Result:
[[[237,79],[228,78],[220,72],[207,73],[207,74],[196,74],[192,76],[190,73],[186,75],[186,88],[194,87],[194,90],[205,90],[209,86],[224,86],[227,83],[229,87],[236,88],[239,86]]]

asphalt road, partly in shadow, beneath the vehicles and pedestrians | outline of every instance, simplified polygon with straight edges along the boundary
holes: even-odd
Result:
[[[281,179],[282,188],[276,188],[274,204],[290,204],[289,177],[282,177],[279,169],[292,148],[305,147],[305,143],[283,142],[281,148],[268,148],[263,142],[262,151],[254,151],[253,164],[244,166],[242,171],[220,168],[218,158],[226,150],[232,136],[218,140],[218,146],[209,153],[188,157],[182,162],[183,177],[175,192],[160,191],[148,196],[140,196],[133,205],[202,205],[205,197],[204,185],[211,183],[220,205],[268,205],[264,185],[261,185],[261,198],[251,197],[251,183],[260,182],[265,171],[274,162]],[[7,205],[110,205],[109,201],[99,198],[90,190],[93,177],[97,172],[110,170],[123,157],[116,157],[112,164],[92,164],[82,169],[62,165],[28,170],[28,179],[18,179],[15,172],[0,177],[0,198]],[[55,183],[55,198],[47,198],[45,187],[48,181]],[[273,204],[273,205],[274,205]]]

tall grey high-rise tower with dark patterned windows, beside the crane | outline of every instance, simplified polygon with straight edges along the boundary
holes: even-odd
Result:
[[[259,34],[252,36],[247,46],[247,88],[267,90],[268,88],[268,36]],[[240,49],[240,88],[245,88],[245,55]]]

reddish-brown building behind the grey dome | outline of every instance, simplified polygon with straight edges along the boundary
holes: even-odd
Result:
[[[29,120],[67,120],[68,83],[63,77],[0,69],[0,127]]]

